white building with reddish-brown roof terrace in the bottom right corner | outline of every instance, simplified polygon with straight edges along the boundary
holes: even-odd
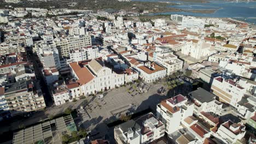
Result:
[[[237,140],[241,140],[245,136],[245,128],[245,125],[229,120],[220,125],[216,134],[225,143],[236,143]]]

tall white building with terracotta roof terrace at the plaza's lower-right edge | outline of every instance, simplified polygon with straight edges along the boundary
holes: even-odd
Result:
[[[194,104],[179,94],[173,98],[162,100],[156,106],[156,116],[166,125],[166,133],[170,135],[180,129],[183,119],[192,116]]]

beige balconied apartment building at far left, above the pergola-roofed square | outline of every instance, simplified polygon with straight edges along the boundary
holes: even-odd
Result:
[[[41,110],[45,107],[39,83],[32,80],[21,79],[17,82],[6,83],[4,98],[12,116]]]

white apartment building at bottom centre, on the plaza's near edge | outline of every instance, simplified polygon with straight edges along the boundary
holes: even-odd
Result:
[[[165,125],[153,113],[130,120],[114,128],[118,144],[150,143],[165,135]]]

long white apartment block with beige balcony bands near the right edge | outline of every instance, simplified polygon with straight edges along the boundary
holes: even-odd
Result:
[[[213,79],[211,91],[218,96],[220,101],[236,107],[237,102],[240,101],[246,93],[246,88],[238,85],[236,80],[225,80],[224,77],[218,76]]]

